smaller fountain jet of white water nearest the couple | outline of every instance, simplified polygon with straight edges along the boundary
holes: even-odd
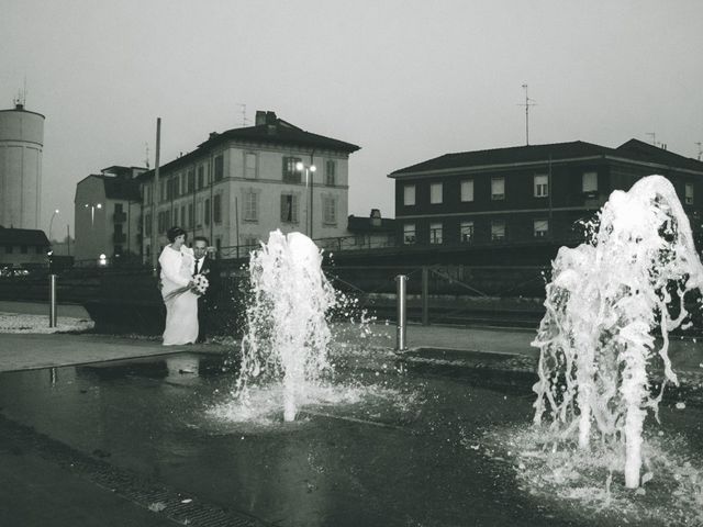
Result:
[[[235,393],[246,404],[252,384],[280,381],[287,422],[294,421],[308,388],[331,369],[325,314],[335,294],[321,265],[322,255],[308,236],[283,236],[278,229],[249,259],[252,299]]]

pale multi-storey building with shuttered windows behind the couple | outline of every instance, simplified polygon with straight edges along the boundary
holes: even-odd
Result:
[[[143,254],[154,264],[178,225],[224,257],[246,254],[280,228],[343,236],[349,154],[359,147],[259,111],[254,126],[212,133],[197,149],[140,176]],[[156,247],[156,250],[152,250]]]

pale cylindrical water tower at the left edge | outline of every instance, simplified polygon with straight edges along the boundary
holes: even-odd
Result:
[[[44,115],[0,110],[0,225],[41,228]]]

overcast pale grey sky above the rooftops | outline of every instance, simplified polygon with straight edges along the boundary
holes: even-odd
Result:
[[[636,137],[698,157],[698,0],[0,0],[0,109],[46,116],[43,228],[76,183],[161,164],[256,110],[361,146],[349,213],[393,216],[391,171],[449,152]],[[60,227],[60,229],[57,228]]]

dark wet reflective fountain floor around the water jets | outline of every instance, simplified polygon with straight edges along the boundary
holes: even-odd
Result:
[[[282,423],[275,390],[241,418],[222,357],[3,373],[0,429],[42,435],[25,442],[48,441],[46,456],[64,452],[58,463],[74,456],[88,473],[114,471],[115,492],[124,486],[132,500],[164,489],[159,514],[175,514],[175,496],[188,496],[211,512],[283,526],[593,525],[589,511],[521,489],[514,462],[486,440],[529,424],[529,390],[380,363],[339,368],[294,423]],[[680,434],[700,438],[674,417]],[[133,486],[147,497],[130,494]],[[605,515],[599,525],[621,524]]]

